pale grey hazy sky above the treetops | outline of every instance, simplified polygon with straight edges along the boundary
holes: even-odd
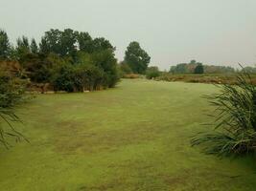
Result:
[[[0,0],[0,28],[12,40],[71,28],[104,36],[121,60],[139,41],[151,65],[197,59],[256,64],[256,0]]]

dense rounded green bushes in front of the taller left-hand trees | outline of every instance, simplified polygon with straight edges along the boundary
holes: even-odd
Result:
[[[113,87],[119,80],[117,61],[110,50],[99,53],[78,53],[75,64],[55,65],[51,83],[56,91],[82,92]]]

